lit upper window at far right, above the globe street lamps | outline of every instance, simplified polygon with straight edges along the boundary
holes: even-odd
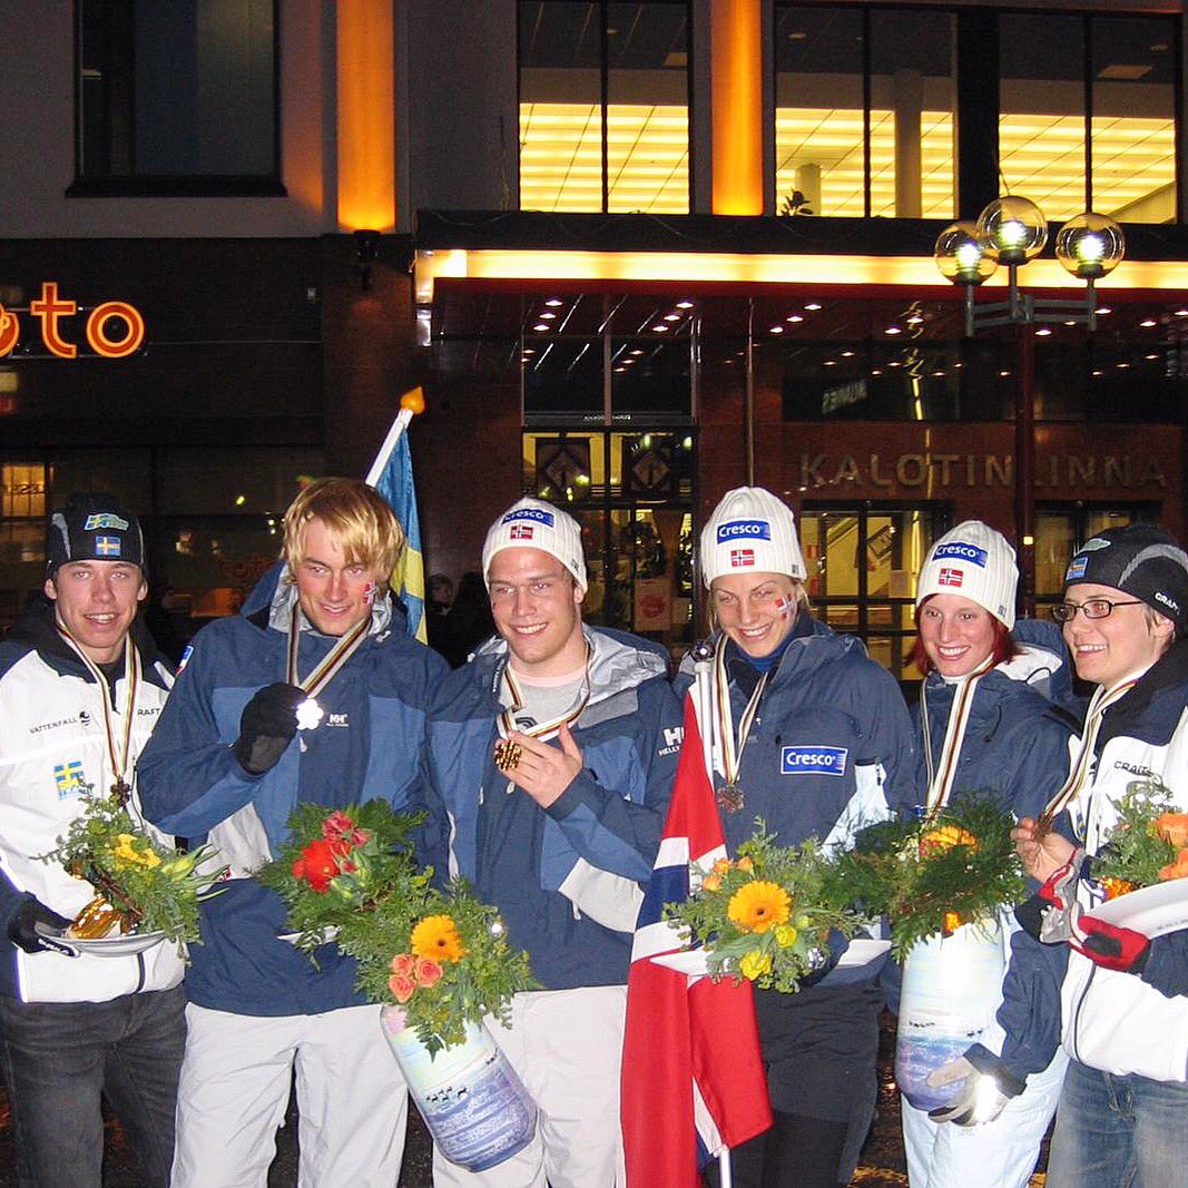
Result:
[[[1175,220],[1175,21],[1003,14],[1003,178],[1050,220]]]

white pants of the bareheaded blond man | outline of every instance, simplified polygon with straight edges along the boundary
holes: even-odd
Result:
[[[378,1006],[185,1019],[171,1188],[264,1188],[295,1066],[299,1188],[393,1188],[409,1098]]]

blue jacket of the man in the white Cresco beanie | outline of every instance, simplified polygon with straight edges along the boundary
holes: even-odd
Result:
[[[639,884],[651,876],[683,733],[663,649],[583,630],[590,696],[573,734],[584,770],[548,809],[494,765],[501,639],[446,678],[428,727],[435,865],[499,906],[549,990],[627,980]]]

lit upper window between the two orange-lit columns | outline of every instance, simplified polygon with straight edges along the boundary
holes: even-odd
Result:
[[[689,210],[684,0],[520,0],[520,209]]]

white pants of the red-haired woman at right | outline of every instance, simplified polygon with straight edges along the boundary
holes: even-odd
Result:
[[[993,1121],[981,1126],[935,1123],[928,1111],[901,1100],[911,1188],[1026,1188],[1067,1067],[1068,1056],[1060,1049]]]

